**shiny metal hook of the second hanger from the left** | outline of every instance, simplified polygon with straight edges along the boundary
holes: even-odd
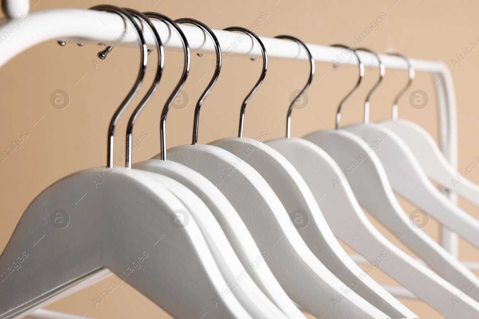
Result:
[[[131,144],[132,144],[132,132],[133,132],[133,125],[135,125],[135,121],[138,118],[138,115],[140,112],[144,109],[144,107],[147,105],[148,101],[151,99],[153,94],[155,93],[156,89],[158,88],[158,85],[160,84],[160,78],[161,74],[163,72],[163,66],[164,66],[164,58],[165,58],[165,52],[163,49],[163,44],[161,43],[160,39],[160,34],[158,34],[158,31],[156,30],[155,26],[153,23],[148,19],[148,16],[144,19],[144,15],[142,15],[140,12],[133,10],[133,9],[128,9],[124,8],[125,11],[128,11],[131,15],[136,17],[140,23],[143,23],[143,21],[146,21],[148,24],[148,27],[151,29],[151,32],[153,32],[153,35],[155,36],[155,42],[156,42],[156,48],[158,49],[158,67],[156,69],[156,75],[155,79],[153,80],[153,83],[151,84],[147,94],[143,97],[143,99],[140,101],[138,104],[137,108],[133,111],[133,113],[130,116],[130,119],[128,120],[128,125],[126,126],[126,168],[131,168],[131,154],[132,154],[132,149],[131,149]],[[147,50],[147,55],[152,50]]]

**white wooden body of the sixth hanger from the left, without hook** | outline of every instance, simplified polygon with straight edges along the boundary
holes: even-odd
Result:
[[[361,68],[361,73],[363,70]],[[347,97],[354,90],[355,88]],[[466,313],[478,316],[479,304],[476,301],[466,297],[462,302],[467,301],[468,306],[465,308],[468,309],[455,308],[451,298],[461,291],[399,250],[374,228],[354,198],[345,178],[341,179],[341,183],[331,182],[343,174],[331,156],[307,140],[283,140],[281,143],[278,140],[267,143],[296,167],[318,200],[319,208],[336,236],[373,263],[375,268],[383,269],[417,297],[445,314],[446,318],[460,318]],[[465,312],[460,314],[461,311]]]

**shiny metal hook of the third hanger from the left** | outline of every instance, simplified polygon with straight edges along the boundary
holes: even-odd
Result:
[[[164,23],[166,23],[169,27],[171,27],[178,35],[180,36],[180,40],[183,44],[183,52],[184,52],[184,65],[183,65],[183,74],[180,78],[180,81],[176,85],[175,89],[171,93],[170,97],[165,103],[163,110],[161,111],[160,117],[160,142],[161,142],[161,159],[166,161],[166,115],[168,114],[168,110],[170,110],[171,104],[173,104],[174,99],[178,93],[180,93],[184,83],[186,82],[186,78],[188,77],[188,73],[190,72],[190,46],[188,45],[188,40],[186,40],[186,36],[181,31],[180,27],[166,15],[157,12],[143,12],[146,14],[148,18],[158,19]]]

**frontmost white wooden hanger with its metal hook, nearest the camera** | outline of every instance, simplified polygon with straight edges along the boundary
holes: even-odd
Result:
[[[17,224],[0,255],[0,267],[8,272],[0,285],[0,318],[22,318],[108,268],[173,317],[209,313],[218,319],[251,319],[233,295],[216,308],[211,303],[227,283],[194,219],[181,231],[170,224],[172,212],[187,212],[182,203],[153,181],[153,174],[114,165],[114,128],[141,85],[147,50],[127,11],[105,5],[92,9],[118,13],[133,24],[142,44],[140,71],[110,122],[109,165],[47,187]],[[156,238],[163,241],[155,243]]]

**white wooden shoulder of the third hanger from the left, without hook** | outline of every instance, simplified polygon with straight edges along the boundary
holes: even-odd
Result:
[[[167,160],[147,160],[134,168],[158,173],[182,183],[206,204],[221,225],[236,255],[264,294],[289,318],[305,318],[279,285],[250,232],[228,199],[205,176],[179,163]],[[238,275],[238,274],[236,274]]]

